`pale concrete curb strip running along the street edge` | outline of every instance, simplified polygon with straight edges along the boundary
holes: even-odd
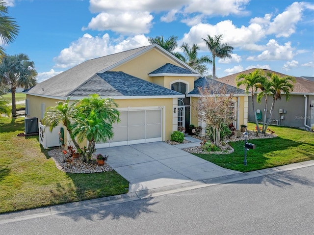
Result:
[[[212,178],[203,181],[194,181],[189,183],[182,183],[173,186],[166,186],[155,189],[148,189],[142,191],[135,191],[121,195],[115,195],[104,198],[91,199],[80,202],[67,203],[62,205],[55,205],[50,207],[38,208],[38,209],[28,209],[23,211],[11,212],[0,214],[0,224],[18,222],[22,220],[39,218],[49,215],[61,214],[66,212],[73,212],[83,209],[92,209],[103,207],[107,205],[114,205],[124,202],[131,202],[146,198],[157,197],[166,194],[172,194],[197,188],[209,187],[223,183],[233,183],[237,181],[252,179],[256,177],[277,174],[285,171],[290,171],[294,169],[299,169],[303,167],[314,166],[314,160],[292,163],[289,165],[278,166],[273,168],[267,168],[257,171],[250,171],[244,173],[236,173],[228,176]]]

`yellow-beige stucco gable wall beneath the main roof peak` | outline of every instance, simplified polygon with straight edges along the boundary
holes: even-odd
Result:
[[[153,50],[141,54],[140,56],[133,58],[132,60],[110,71],[123,71],[124,73],[130,74],[134,77],[153,82],[153,77],[148,77],[148,74],[166,63],[181,66],[175,60],[166,57],[165,54],[154,48]]]

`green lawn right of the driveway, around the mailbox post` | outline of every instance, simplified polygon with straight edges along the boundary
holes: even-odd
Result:
[[[249,123],[248,131],[255,131],[256,124]],[[287,165],[314,159],[314,132],[297,128],[270,126],[278,137],[270,139],[252,139],[248,142],[256,145],[255,150],[247,151],[247,165],[243,165],[244,141],[229,142],[235,149],[232,154],[195,154],[221,167],[241,172]]]

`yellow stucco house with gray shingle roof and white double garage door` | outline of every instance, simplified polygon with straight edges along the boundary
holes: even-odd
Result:
[[[87,60],[30,88],[27,116],[40,120],[48,107],[68,96],[74,101],[99,94],[119,105],[121,122],[114,125],[114,137],[97,148],[169,140],[178,126],[199,125],[191,107],[197,96],[189,92],[200,76],[153,44]],[[243,92],[235,103],[237,121],[246,123],[247,95]]]

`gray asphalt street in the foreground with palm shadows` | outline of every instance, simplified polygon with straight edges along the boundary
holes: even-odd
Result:
[[[0,234],[314,234],[314,166],[2,223]]]

